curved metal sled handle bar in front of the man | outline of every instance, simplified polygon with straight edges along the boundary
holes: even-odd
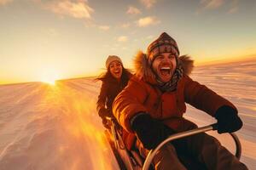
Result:
[[[182,132],[182,133],[176,133],[176,134],[171,135],[169,138],[165,139],[162,143],[160,143],[154,150],[149,151],[148,156],[147,156],[146,160],[144,161],[143,170],[148,170],[148,168],[151,164],[151,161],[153,160],[156,152],[158,150],[160,150],[160,148],[164,144],[166,144],[167,142],[170,142],[174,139],[181,139],[181,138],[193,135],[193,134],[205,133],[207,131],[217,130],[217,129],[218,129],[218,125],[217,125],[217,123],[215,123],[215,124],[212,124],[212,125],[208,125],[206,127],[198,127],[196,129],[193,129],[193,130],[189,130],[189,131],[185,131],[185,132]],[[238,159],[240,159],[240,157],[241,157],[241,143],[240,143],[240,140],[238,139],[238,137],[236,136],[235,133],[230,133],[230,135],[235,140],[235,143],[236,143],[236,157]]]

